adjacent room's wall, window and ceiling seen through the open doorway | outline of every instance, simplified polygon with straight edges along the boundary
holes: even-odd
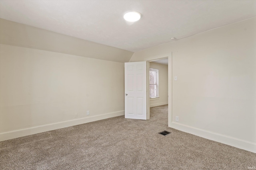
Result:
[[[168,107],[168,58],[148,62],[148,98],[150,107]]]

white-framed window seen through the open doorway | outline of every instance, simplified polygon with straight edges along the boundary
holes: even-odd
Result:
[[[149,97],[158,98],[158,69],[149,69]]]

